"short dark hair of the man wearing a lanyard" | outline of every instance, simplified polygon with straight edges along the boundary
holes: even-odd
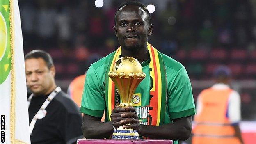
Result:
[[[49,53],[43,50],[32,50],[31,52],[25,55],[25,60],[32,59],[32,58],[35,58],[35,59],[42,58],[46,62],[48,69],[50,69],[50,67],[53,66],[52,57],[50,56]]]

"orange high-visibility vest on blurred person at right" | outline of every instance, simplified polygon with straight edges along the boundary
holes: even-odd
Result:
[[[240,144],[226,117],[232,89],[205,89],[201,92],[201,113],[195,115],[192,144]]]

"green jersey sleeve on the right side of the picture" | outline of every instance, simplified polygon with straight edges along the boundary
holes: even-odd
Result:
[[[191,83],[185,67],[183,66],[178,72],[172,73],[171,78],[167,88],[170,118],[177,119],[196,114]]]

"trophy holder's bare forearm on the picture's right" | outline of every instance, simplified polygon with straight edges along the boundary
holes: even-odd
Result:
[[[190,137],[191,129],[191,125],[184,123],[184,121],[176,121],[161,126],[141,125],[139,135],[151,139],[187,140]]]

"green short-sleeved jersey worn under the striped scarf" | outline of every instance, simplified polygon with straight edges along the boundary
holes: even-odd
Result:
[[[113,52],[114,53],[114,52]],[[94,117],[102,117],[106,107],[105,103],[105,75],[110,64],[111,55],[100,59],[90,66],[85,78],[85,88],[82,96],[80,112]],[[192,88],[185,67],[176,60],[162,54],[167,77],[167,101],[165,108],[164,123],[171,123],[172,119],[187,117],[196,114]],[[146,78],[142,80],[131,103],[136,108],[141,124],[148,125],[149,101],[150,101],[150,59],[142,63],[142,71]],[[116,91],[116,101],[118,91]]]

